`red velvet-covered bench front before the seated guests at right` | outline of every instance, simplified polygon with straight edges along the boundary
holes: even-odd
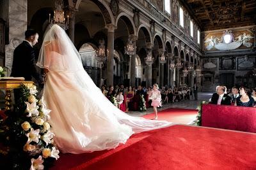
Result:
[[[256,133],[256,108],[203,104],[202,126]]]

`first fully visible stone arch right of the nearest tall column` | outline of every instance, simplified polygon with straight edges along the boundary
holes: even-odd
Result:
[[[115,21],[115,26],[117,27],[117,24],[118,24],[118,20],[122,18],[122,20],[124,20],[125,22],[125,25],[127,26],[127,29],[128,29],[128,32],[129,34],[134,34],[134,35],[137,35],[136,33],[136,27],[135,27],[135,24],[132,20],[132,18],[127,15],[127,13],[120,13],[117,17],[116,17],[116,21]]]

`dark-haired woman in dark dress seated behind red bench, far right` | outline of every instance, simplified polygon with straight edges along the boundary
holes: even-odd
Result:
[[[253,107],[255,106],[255,101],[251,97],[251,90],[248,87],[240,87],[240,95],[236,99],[235,106],[246,106]]]

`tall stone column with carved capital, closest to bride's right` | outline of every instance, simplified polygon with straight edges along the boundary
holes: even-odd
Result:
[[[109,24],[106,25],[108,29],[108,59],[107,59],[107,87],[113,85],[113,71],[114,71],[114,32],[115,25]]]

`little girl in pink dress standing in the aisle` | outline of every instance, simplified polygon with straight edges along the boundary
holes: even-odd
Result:
[[[153,90],[151,91],[151,95],[149,99],[152,99],[151,106],[154,108],[155,119],[157,120],[157,107],[162,106],[161,104],[161,92],[158,90],[158,85],[153,85]]]

